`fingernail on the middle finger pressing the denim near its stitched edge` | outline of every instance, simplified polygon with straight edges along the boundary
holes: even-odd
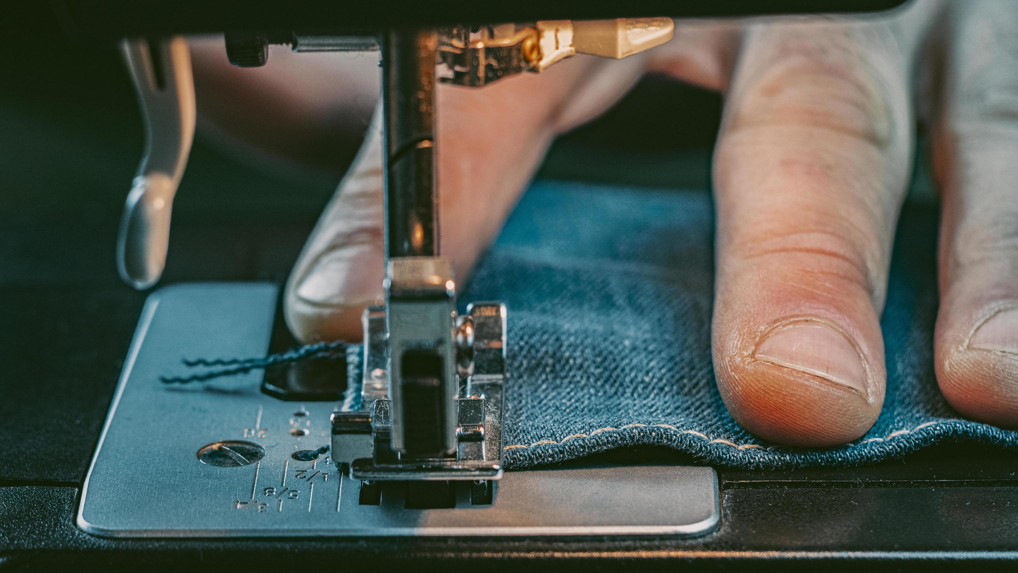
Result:
[[[755,357],[817,376],[869,398],[866,367],[858,349],[825,323],[807,320],[776,329],[756,347]]]

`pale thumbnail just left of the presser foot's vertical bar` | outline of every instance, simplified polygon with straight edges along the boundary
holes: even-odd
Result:
[[[314,304],[363,304],[382,297],[382,278],[373,245],[342,246],[319,256],[296,295]]]

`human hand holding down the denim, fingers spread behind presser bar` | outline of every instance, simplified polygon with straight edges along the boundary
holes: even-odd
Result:
[[[849,442],[884,400],[879,318],[911,175],[917,78],[931,70],[943,194],[938,382],[963,414],[1018,425],[1016,58],[1018,5],[926,0],[880,17],[680,24],[668,45],[626,60],[576,57],[483,90],[443,85],[443,254],[466,277],[555,135],[643,72],[719,90],[712,343],[721,395],[761,438]],[[382,299],[382,185],[376,124],[287,284],[299,339],[359,338],[361,310]]]

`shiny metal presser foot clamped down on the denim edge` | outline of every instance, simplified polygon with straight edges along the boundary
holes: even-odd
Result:
[[[390,264],[388,316],[364,311],[362,409],[332,414],[332,459],[362,481],[469,480],[490,503],[502,477],[506,307],[478,302],[457,317],[448,270],[439,257]],[[421,328],[436,322],[444,339]]]

